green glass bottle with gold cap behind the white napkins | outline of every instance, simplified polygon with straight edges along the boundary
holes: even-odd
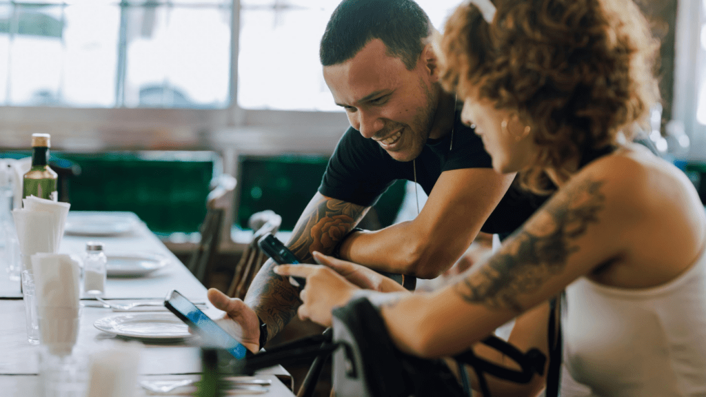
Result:
[[[32,168],[24,175],[22,198],[37,196],[57,201],[56,172],[49,168],[49,134],[32,134]]]

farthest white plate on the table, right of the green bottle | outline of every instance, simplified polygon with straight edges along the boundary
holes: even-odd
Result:
[[[67,235],[78,236],[114,236],[131,232],[138,220],[127,213],[68,213]]]

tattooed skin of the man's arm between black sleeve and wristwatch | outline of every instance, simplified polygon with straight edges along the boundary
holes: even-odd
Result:
[[[369,207],[316,194],[294,226],[287,246],[302,262],[311,262],[311,252],[329,254],[363,218]],[[273,272],[277,265],[265,262],[248,289],[246,303],[268,326],[271,338],[297,314],[299,291],[289,279]]]

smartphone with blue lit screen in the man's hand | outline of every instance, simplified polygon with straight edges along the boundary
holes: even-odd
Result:
[[[252,354],[242,343],[230,336],[225,329],[218,326],[215,321],[201,312],[195,304],[177,290],[172,290],[167,294],[167,297],[164,298],[164,307],[184,321],[191,330],[201,336],[206,344],[227,350],[237,359],[243,359]]]

